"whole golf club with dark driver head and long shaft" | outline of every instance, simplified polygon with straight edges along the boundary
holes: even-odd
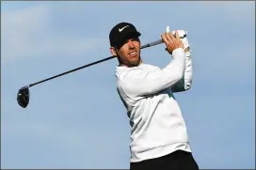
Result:
[[[140,49],[144,49],[144,48],[147,48],[147,47],[152,47],[152,46],[157,45],[157,44],[160,44],[160,43],[163,43],[163,40],[162,40],[162,39],[153,41],[152,43],[145,44],[145,45],[141,46]],[[74,70],[69,70],[69,71],[66,71],[66,72],[57,74],[56,76],[53,76],[53,77],[50,77],[50,78],[41,80],[40,82],[37,82],[37,83],[34,83],[34,84],[30,84],[30,85],[26,85],[26,86],[22,87],[21,89],[19,89],[19,91],[18,91],[18,94],[17,94],[17,101],[18,101],[18,104],[19,104],[20,106],[22,106],[23,108],[25,108],[25,107],[28,105],[29,99],[30,99],[30,94],[29,94],[29,89],[28,89],[28,88],[31,87],[31,86],[39,85],[39,84],[41,84],[41,83],[43,83],[43,82],[46,82],[46,81],[55,79],[56,77],[60,77],[60,76],[62,76],[62,75],[71,73],[71,72],[73,72],[73,71],[75,71],[75,70],[81,70],[81,69],[84,69],[84,68],[88,68],[89,66],[92,66],[92,65],[95,65],[95,64],[104,62],[104,61],[106,61],[106,60],[109,60],[109,59],[112,59],[112,58],[115,58],[115,57],[116,57],[115,55],[109,56],[109,57],[106,57],[106,58],[101,59],[101,60],[99,60],[99,61],[95,61],[95,62],[89,63],[89,64],[87,64],[87,65],[85,65],[85,66],[76,68],[76,69],[74,69]]]

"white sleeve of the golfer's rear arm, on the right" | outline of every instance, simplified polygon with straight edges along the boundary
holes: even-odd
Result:
[[[191,52],[188,51],[185,53],[185,69],[184,69],[184,76],[181,81],[177,84],[171,86],[172,92],[183,92],[190,89],[192,85],[192,77],[193,77],[193,70],[192,70],[192,59],[191,59]]]

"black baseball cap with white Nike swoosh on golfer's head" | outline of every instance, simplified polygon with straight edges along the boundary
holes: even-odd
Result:
[[[120,49],[127,38],[138,38],[140,35],[132,23],[118,23],[109,33],[110,45]]]

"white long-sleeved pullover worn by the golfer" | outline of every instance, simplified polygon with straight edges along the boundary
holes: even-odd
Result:
[[[117,89],[132,127],[130,162],[161,157],[177,149],[191,151],[184,118],[173,96],[173,92],[191,86],[191,54],[179,48],[172,57],[164,69],[143,63],[117,67]]]

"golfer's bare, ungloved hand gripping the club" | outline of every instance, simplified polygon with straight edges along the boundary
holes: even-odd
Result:
[[[175,49],[184,48],[184,44],[182,42],[182,39],[179,36],[178,31],[175,31],[176,38],[174,38],[171,31],[169,33],[162,34],[161,37],[167,46],[166,50],[168,51],[169,54],[172,54],[172,52]]]

